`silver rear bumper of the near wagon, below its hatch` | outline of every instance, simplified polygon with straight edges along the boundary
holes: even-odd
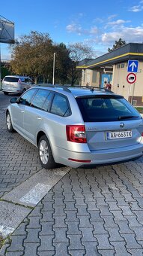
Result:
[[[80,166],[98,166],[113,163],[123,163],[136,158],[142,157],[143,145],[137,144],[130,147],[115,148],[101,151],[74,152],[58,148],[58,154],[55,156],[55,162],[62,163],[66,166],[78,168]],[[61,157],[59,157],[59,155]],[[57,157],[58,156],[58,157]],[[69,160],[73,159],[73,160]],[[76,160],[81,160],[78,162]],[[89,160],[90,163],[83,163],[82,160]]]

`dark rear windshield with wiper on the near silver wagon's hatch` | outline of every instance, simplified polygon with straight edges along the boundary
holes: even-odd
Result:
[[[139,112],[122,96],[77,97],[85,122],[141,119]]]

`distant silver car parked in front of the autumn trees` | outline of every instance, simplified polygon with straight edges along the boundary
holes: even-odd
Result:
[[[2,80],[2,91],[5,95],[8,93],[24,93],[25,90],[34,85],[34,81],[31,78],[19,75],[7,75]]]

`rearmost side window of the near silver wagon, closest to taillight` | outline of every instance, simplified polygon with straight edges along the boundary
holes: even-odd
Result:
[[[58,114],[61,117],[68,117],[71,111],[67,97],[60,93],[55,93],[50,112],[52,114]]]

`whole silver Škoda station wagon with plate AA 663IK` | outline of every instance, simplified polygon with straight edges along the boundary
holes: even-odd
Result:
[[[10,102],[7,130],[36,146],[46,169],[142,157],[143,120],[123,96],[90,87],[37,86]]]

